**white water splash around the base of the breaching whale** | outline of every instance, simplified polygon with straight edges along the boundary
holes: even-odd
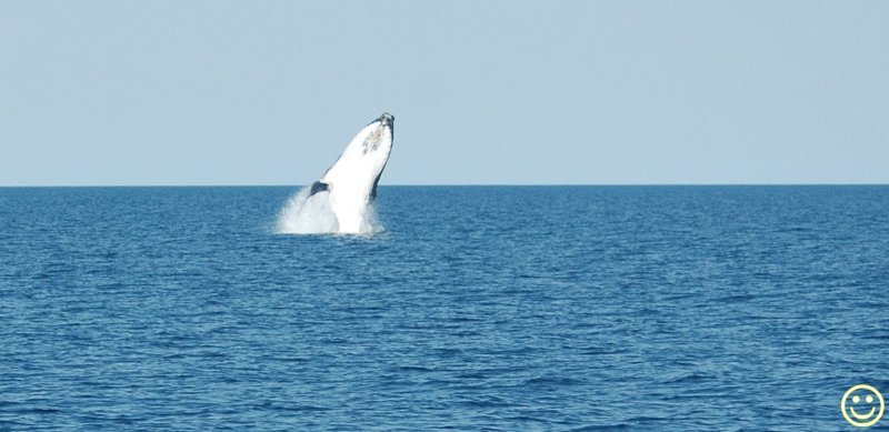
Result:
[[[319,192],[309,197],[311,187],[302,188],[284,204],[278,214],[276,232],[279,234],[359,234],[371,235],[383,230],[377,220],[372,204],[361,210],[357,231],[340,230],[337,214],[330,202],[330,193]]]

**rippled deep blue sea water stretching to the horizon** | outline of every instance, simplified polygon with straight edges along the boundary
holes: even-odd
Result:
[[[0,430],[851,430],[889,187],[0,189]],[[889,418],[877,424],[889,426]]]

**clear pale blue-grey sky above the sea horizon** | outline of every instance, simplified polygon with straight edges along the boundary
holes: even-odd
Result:
[[[889,1],[0,1],[0,185],[889,183]]]

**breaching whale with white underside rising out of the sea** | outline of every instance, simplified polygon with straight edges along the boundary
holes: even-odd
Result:
[[[369,231],[370,204],[377,198],[380,177],[392,152],[396,118],[383,112],[352,138],[323,175],[311,184],[309,201],[327,200],[337,219],[336,232]]]

